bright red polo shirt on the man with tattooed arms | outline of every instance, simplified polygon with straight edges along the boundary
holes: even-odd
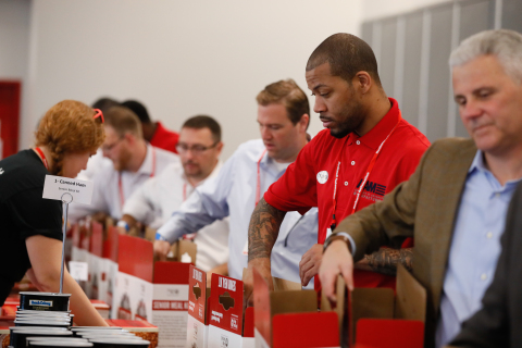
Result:
[[[383,200],[385,194],[410,177],[430,146],[430,141],[419,129],[400,117],[397,101],[393,98],[389,100],[391,109],[362,137],[351,133],[338,139],[330,135],[330,129],[320,132],[302,148],[285,174],[270,186],[264,194],[264,200],[282,211],[297,210],[301,214],[312,207],[318,207],[318,241],[323,244],[326,229],[332,224],[338,162],[340,161],[335,210],[337,224],[351,213],[358,187],[363,181],[370,161],[391,129],[397,126],[376,159],[356,210]],[[411,243],[403,245],[406,246],[411,246]],[[353,277],[357,287],[395,288],[393,276],[355,270]]]

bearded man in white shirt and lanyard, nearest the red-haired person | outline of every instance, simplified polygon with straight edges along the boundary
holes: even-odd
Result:
[[[145,141],[139,120],[129,109],[113,107],[104,117],[105,140],[101,148],[112,163],[103,162],[92,177],[91,204],[72,204],[69,209],[69,219],[73,223],[95,213],[120,219],[126,198],[166,165],[179,162],[176,154]]]

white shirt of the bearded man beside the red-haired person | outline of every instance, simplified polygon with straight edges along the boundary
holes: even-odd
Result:
[[[159,175],[170,163],[178,162],[179,157],[177,154],[154,148],[150,144],[147,145],[144,163],[135,173],[119,172],[114,169],[112,161],[104,161],[92,176],[95,188],[90,206],[73,203],[69,207],[71,223],[96,212],[105,212],[114,219],[122,217],[122,198],[126,200],[149,177]],[[120,190],[120,174],[122,190]]]

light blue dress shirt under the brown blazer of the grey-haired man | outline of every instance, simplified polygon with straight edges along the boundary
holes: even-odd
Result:
[[[468,172],[440,298],[436,346],[447,345],[463,321],[482,308],[493,281],[509,201],[518,181],[501,186],[478,150]]]

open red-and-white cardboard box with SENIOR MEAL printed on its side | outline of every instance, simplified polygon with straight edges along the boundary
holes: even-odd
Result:
[[[160,328],[159,347],[185,347],[190,264],[154,263],[152,243],[127,235],[119,235],[117,253],[112,314],[157,325]]]

